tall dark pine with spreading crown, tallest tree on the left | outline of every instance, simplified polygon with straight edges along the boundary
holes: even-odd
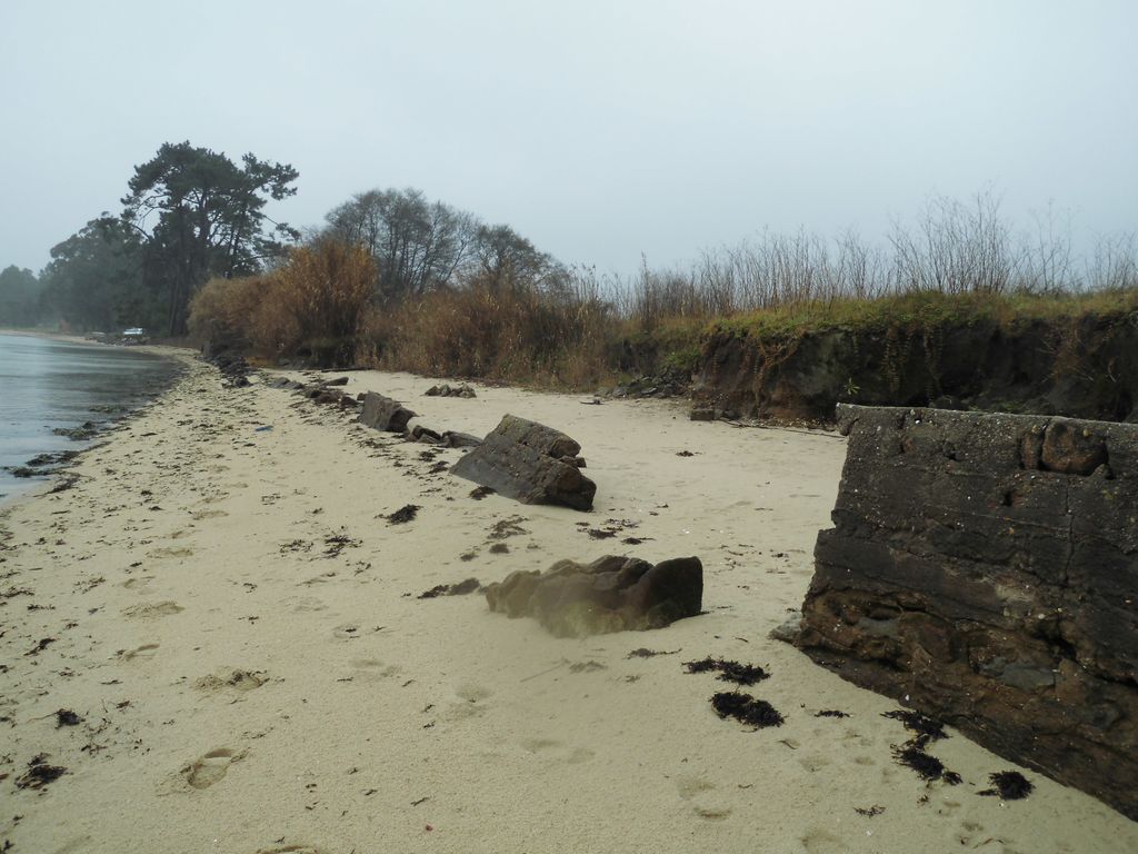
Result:
[[[164,295],[171,335],[185,331],[189,299],[207,279],[256,273],[298,237],[264,211],[296,194],[297,176],[287,164],[246,154],[237,165],[189,142],[167,142],[135,167],[122,219],[142,240],[143,279]]]

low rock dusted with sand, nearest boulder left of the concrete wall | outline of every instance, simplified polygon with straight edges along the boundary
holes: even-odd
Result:
[[[544,573],[516,572],[486,588],[492,611],[535,617],[559,638],[662,629],[703,605],[703,565],[675,558],[655,566],[605,556],[592,564],[559,560]]]

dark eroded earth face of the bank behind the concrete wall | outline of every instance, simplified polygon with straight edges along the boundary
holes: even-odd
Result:
[[[1007,325],[899,315],[814,331],[724,328],[703,343],[696,405],[832,422],[839,402],[1138,421],[1138,320]]]

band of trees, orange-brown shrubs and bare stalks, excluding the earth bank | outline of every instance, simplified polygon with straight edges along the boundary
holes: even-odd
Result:
[[[57,245],[38,278],[0,273],[0,325],[142,326],[224,339],[266,361],[587,385],[627,367],[630,350],[684,363],[699,329],[754,313],[782,328],[906,295],[1138,288],[1135,235],[1080,254],[1061,217],[1016,231],[992,194],[933,198],[877,243],[762,232],[621,277],[568,266],[511,227],[415,189],[360,192],[302,237],[265,210],[294,195],[297,178],[251,154],[237,164],[164,145],[135,169],[117,216]]]

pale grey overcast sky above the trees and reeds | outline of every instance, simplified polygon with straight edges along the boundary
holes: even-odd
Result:
[[[1133,231],[1136,34],[1133,0],[0,0],[0,268],[182,140],[291,163],[297,227],[417,187],[602,272],[989,186]]]

